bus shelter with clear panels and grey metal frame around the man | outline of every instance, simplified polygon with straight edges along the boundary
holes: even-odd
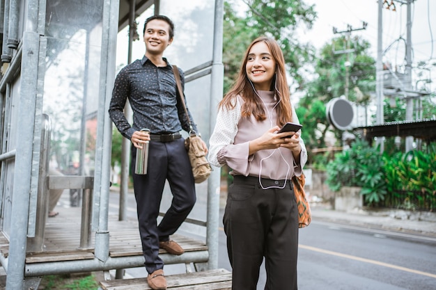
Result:
[[[144,12],[173,19],[176,37],[166,58],[185,71],[189,110],[207,141],[223,90],[223,1],[1,0],[0,6],[0,263],[6,289],[38,289],[44,275],[143,266],[137,225],[109,216],[107,109],[117,33],[130,26],[132,35]],[[162,259],[214,269],[219,170],[197,186],[203,210],[193,211],[187,228],[201,227],[205,239],[189,242],[191,250],[180,257]],[[65,224],[47,218],[49,192],[56,189],[68,191],[74,203]],[[162,209],[169,202],[166,188]],[[131,248],[120,250],[126,243]]]

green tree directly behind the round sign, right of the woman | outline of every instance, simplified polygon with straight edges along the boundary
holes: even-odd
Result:
[[[348,47],[353,52],[342,53]],[[306,95],[297,108],[305,125],[303,138],[307,147],[325,147],[325,135],[329,130],[334,132],[336,140],[341,140],[342,131],[327,122],[325,105],[334,97],[345,95],[346,70],[348,100],[361,106],[368,105],[371,92],[375,91],[375,60],[369,56],[369,48],[369,42],[362,38],[355,37],[348,42],[346,36],[341,36],[320,50],[314,62],[313,79],[306,84]]]

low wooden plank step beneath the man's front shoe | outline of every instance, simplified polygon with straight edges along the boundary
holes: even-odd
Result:
[[[225,269],[166,276],[167,289],[231,290],[232,275]],[[109,280],[100,282],[99,290],[150,290],[147,278]]]

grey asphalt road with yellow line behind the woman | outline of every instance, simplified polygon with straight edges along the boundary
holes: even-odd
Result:
[[[168,198],[166,198],[168,202]],[[204,198],[194,211],[202,211]],[[164,202],[165,203],[165,202]],[[111,193],[111,214],[118,214],[118,193]],[[129,195],[127,217],[136,218],[136,204]],[[223,209],[220,210],[222,217]],[[201,213],[193,213],[194,216]],[[221,225],[220,217],[220,225]],[[181,228],[178,234],[198,237],[202,232]],[[219,268],[231,271],[226,237],[219,230]],[[165,266],[166,275],[182,273],[185,265]],[[380,229],[313,221],[299,230],[299,290],[400,290],[436,289],[436,239]],[[126,269],[130,277],[145,277],[144,268]],[[265,285],[261,269],[258,290]]]

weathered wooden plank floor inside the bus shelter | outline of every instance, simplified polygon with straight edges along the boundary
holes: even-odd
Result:
[[[80,212],[79,207],[63,208],[58,216],[47,218],[44,250],[42,252],[28,252],[26,263],[93,259],[94,234],[92,234],[89,248],[79,248]],[[142,256],[137,220],[119,221],[116,216],[109,216],[108,227],[110,257]],[[204,241],[197,241],[177,234],[171,236],[171,239],[177,241],[185,249],[185,252],[208,250]],[[0,252],[4,257],[9,255],[9,241],[1,232]],[[166,251],[159,250],[161,254],[164,252]]]

